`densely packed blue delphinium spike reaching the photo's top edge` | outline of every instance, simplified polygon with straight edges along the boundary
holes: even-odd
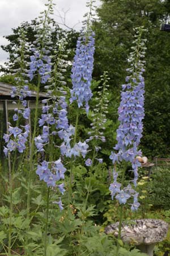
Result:
[[[88,101],[92,97],[90,86],[95,51],[95,34],[90,28],[91,20],[94,18],[94,14],[92,14],[94,2],[93,0],[87,2],[87,7],[90,8],[90,11],[84,15],[85,20],[76,44],[73,67],[71,69],[73,89],[71,89],[70,102],[77,101],[79,108],[85,105],[87,113],[89,110]]]

